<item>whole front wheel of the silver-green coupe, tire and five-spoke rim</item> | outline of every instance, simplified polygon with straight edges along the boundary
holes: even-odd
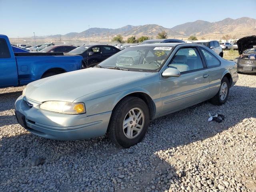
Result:
[[[149,110],[142,99],[124,98],[112,113],[107,135],[114,144],[128,148],[144,138],[148,130]]]

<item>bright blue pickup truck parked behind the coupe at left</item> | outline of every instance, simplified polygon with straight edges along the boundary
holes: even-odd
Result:
[[[82,56],[63,53],[14,53],[7,36],[0,34],[0,88],[23,86],[52,75],[79,70]]]

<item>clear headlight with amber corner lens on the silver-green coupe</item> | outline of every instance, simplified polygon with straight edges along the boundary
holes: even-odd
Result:
[[[64,101],[46,101],[40,105],[40,108],[64,114],[81,114],[86,112],[84,103],[70,103]]]

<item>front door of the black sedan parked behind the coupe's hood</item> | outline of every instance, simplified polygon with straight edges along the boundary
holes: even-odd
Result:
[[[101,46],[93,46],[88,50],[87,67],[93,67],[100,63],[102,59]]]

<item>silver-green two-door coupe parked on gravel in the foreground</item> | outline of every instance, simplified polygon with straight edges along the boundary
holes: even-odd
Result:
[[[237,64],[206,46],[138,45],[94,68],[28,84],[16,100],[16,117],[44,138],[107,134],[117,146],[130,147],[144,138],[155,118],[205,100],[224,104],[237,80]]]

